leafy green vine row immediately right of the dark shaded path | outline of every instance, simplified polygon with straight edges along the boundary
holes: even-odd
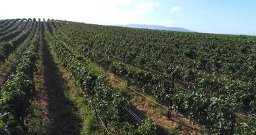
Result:
[[[103,119],[110,134],[154,134],[156,125],[151,119],[145,119],[140,126],[133,124],[125,110],[125,107],[129,107],[126,97],[105,81],[106,76],[96,76],[50,32],[47,32],[47,40],[76,80],[76,85],[86,92],[94,107],[93,112]]]

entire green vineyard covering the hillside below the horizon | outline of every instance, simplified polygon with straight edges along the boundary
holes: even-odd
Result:
[[[0,134],[256,134],[256,36],[0,20]]]

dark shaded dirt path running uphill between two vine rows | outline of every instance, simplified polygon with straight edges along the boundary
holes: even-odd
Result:
[[[79,134],[79,117],[74,113],[76,108],[66,98],[63,88],[63,79],[53,61],[49,45],[43,37],[43,65],[45,66],[45,86],[47,91],[42,91],[39,97],[42,104],[49,109],[50,134]],[[47,97],[47,98],[46,98]]]

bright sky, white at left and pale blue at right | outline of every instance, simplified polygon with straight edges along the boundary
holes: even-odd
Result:
[[[255,0],[4,0],[0,20],[51,18],[89,24],[149,24],[256,35]]]

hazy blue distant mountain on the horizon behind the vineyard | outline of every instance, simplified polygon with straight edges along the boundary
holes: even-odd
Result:
[[[145,24],[127,24],[127,25],[116,25],[116,26],[129,27],[129,28],[147,28],[151,30],[172,30],[172,31],[178,31],[178,32],[193,32],[185,28],[179,28],[179,27],[165,27],[165,26],[157,26],[157,25],[145,25]]]

